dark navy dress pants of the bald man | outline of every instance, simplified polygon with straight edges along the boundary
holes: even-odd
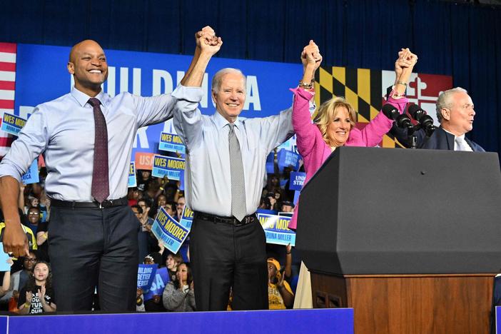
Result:
[[[136,310],[138,221],[128,206],[51,208],[49,255],[58,311]]]

